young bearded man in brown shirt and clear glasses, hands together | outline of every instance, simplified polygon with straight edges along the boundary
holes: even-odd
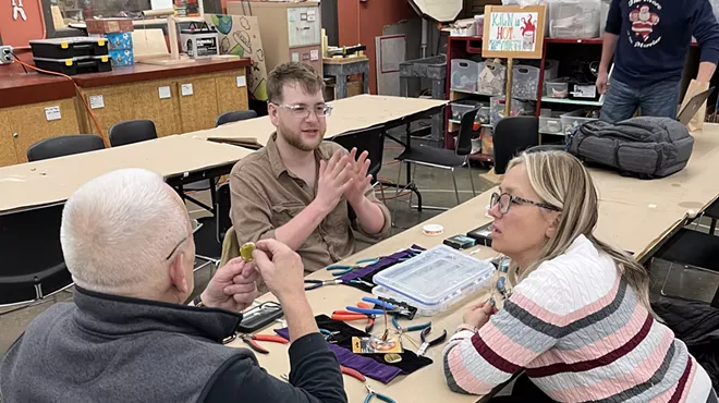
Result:
[[[332,111],[322,88],[322,78],[305,64],[271,71],[268,112],[277,132],[237,162],[230,178],[239,244],[276,239],[300,254],[307,271],[352,255],[353,230],[380,239],[391,224],[369,184],[367,152],[357,156],[356,149],[322,141]]]

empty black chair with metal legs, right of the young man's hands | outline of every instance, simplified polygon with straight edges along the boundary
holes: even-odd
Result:
[[[474,175],[472,174],[472,167],[470,166],[470,154],[472,152],[472,136],[474,134],[474,120],[477,114],[478,108],[466,111],[460,121],[460,133],[456,136],[456,142],[454,144],[454,149],[444,149],[444,148],[435,148],[427,147],[424,145],[412,146],[405,148],[402,154],[400,154],[395,159],[401,162],[411,162],[414,163],[414,169],[416,170],[417,166],[432,167],[447,169],[452,172],[452,182],[454,182],[454,196],[456,197],[456,204],[461,203],[460,192],[456,187],[456,176],[454,176],[454,171],[459,168],[466,167],[467,172],[470,173],[470,182],[472,183],[472,194],[477,195],[477,192],[474,187]],[[402,178],[402,164],[400,163],[400,169],[397,174],[397,183],[400,183]],[[409,168],[407,168],[409,169]],[[416,178],[416,175],[412,175]],[[407,188],[407,184],[401,191]],[[397,198],[400,194],[400,188],[398,187],[394,195],[394,207],[392,210],[397,209]],[[435,208],[435,207],[426,207]],[[446,209],[446,208],[435,208],[435,209]]]

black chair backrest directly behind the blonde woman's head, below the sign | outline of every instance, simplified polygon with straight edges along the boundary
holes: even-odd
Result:
[[[520,152],[539,145],[539,119],[536,117],[511,117],[495,125],[495,173],[502,174],[507,164]]]

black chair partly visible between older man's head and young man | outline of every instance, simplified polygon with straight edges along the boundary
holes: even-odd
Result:
[[[215,217],[203,217],[197,220],[193,237],[195,240],[195,256],[206,262],[197,266],[195,271],[209,264],[219,264],[222,256],[224,234],[232,227],[230,220],[230,184],[223,183],[217,188],[215,197]]]

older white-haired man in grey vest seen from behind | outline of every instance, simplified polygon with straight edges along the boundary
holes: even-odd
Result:
[[[196,305],[184,204],[149,171],[110,172],[68,200],[60,231],[74,304],[38,316],[0,365],[5,402],[346,402],[305,297],[300,257],[273,241],[219,269]],[[41,251],[38,251],[41,253]],[[263,277],[290,330],[290,383],[222,340]]]

